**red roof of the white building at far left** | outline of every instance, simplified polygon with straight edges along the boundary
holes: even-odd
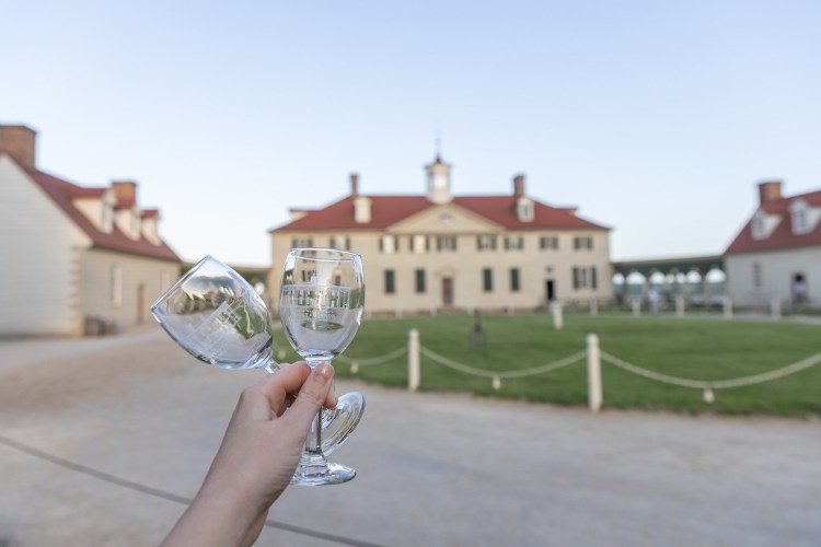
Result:
[[[56,176],[48,175],[37,170],[26,168],[25,172],[48,196],[62,209],[66,214],[77,224],[85,234],[91,237],[93,245],[109,251],[119,251],[132,255],[142,255],[151,258],[161,258],[163,260],[181,261],[180,257],[171,247],[161,242],[154,245],[142,234],[139,240],[131,240],[124,234],[116,224],[111,233],[100,231],[89,219],[71,202],[74,198],[82,197],[101,197],[106,188],[84,188],[77,186]]]

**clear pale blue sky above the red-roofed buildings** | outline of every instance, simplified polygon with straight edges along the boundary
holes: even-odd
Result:
[[[134,179],[183,259],[270,265],[290,208],[525,193],[614,260],[720,254],[758,184],[821,189],[821,2],[0,0],[0,124]],[[2,207],[2,205],[0,205]]]

